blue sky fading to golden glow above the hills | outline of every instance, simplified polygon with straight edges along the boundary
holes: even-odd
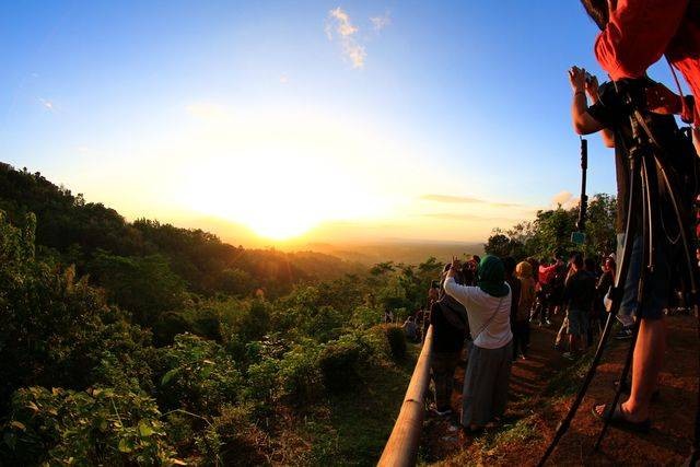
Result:
[[[575,202],[596,32],[561,0],[2,2],[1,160],[235,244],[483,241]]]

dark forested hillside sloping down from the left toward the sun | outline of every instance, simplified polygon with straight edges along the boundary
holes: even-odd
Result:
[[[246,249],[201,230],[144,219],[129,223],[114,209],[85,202],[82,195],[72,195],[39,173],[2,163],[0,209],[15,225],[24,222],[27,212],[35,213],[42,254],[74,264],[79,275],[90,273],[101,284],[108,284],[117,270],[132,269],[138,270],[139,282],[161,283],[165,290],[247,295],[262,289],[280,296],[294,283],[361,270],[330,255]]]

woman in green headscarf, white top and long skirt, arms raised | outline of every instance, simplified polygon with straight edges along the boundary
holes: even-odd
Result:
[[[459,260],[453,258],[445,293],[467,310],[472,343],[464,380],[462,425],[468,432],[499,422],[505,411],[513,358],[511,289],[503,261],[487,255],[479,262],[477,287],[455,281]]]

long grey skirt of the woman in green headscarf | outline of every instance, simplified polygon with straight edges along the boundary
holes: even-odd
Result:
[[[513,341],[500,349],[482,349],[472,345],[464,378],[462,424],[483,427],[502,417],[508,401]]]

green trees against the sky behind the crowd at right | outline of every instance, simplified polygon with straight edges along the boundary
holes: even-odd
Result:
[[[551,258],[572,250],[583,250],[587,256],[604,256],[615,252],[616,199],[609,195],[591,198],[585,224],[586,241],[583,245],[571,243],[576,231],[579,207],[538,211],[532,222],[516,224],[508,231],[495,229],[485,250],[498,256],[523,259],[528,256]]]

